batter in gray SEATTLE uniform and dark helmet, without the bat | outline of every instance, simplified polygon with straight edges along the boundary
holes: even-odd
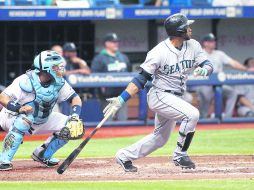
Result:
[[[148,105],[155,114],[155,129],[140,141],[119,150],[116,161],[126,172],[136,172],[132,160],[142,158],[162,147],[168,141],[176,122],[181,121],[177,146],[173,154],[176,166],[194,169],[187,155],[199,119],[199,111],[183,100],[187,75],[208,76],[213,66],[207,60],[199,42],[191,38],[193,20],[183,14],[169,16],[165,29],[169,36],[148,52],[141,64],[141,72],[133,78],[120,96],[108,99],[104,114],[115,113],[126,101],[152,80],[153,87],[147,95]]]

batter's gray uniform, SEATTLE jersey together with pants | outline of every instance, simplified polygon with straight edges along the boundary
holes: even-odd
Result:
[[[162,147],[169,139],[176,122],[181,121],[178,146],[174,158],[186,155],[183,146],[186,135],[194,132],[199,119],[199,111],[182,99],[186,90],[188,73],[207,60],[199,42],[184,41],[182,49],[176,49],[169,39],[154,47],[141,65],[154,76],[153,87],[147,95],[149,108],[155,115],[155,129],[140,141],[120,149],[116,157],[122,161],[145,157]],[[171,91],[165,92],[165,91]]]

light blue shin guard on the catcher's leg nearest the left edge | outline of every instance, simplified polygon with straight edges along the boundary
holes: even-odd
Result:
[[[1,162],[9,163],[15,153],[17,152],[19,145],[23,142],[25,133],[29,130],[32,124],[33,117],[26,116],[24,114],[19,115],[3,142],[3,152],[1,154]]]

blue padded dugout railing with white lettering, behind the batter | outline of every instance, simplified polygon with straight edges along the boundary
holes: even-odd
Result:
[[[91,75],[69,75],[66,80],[74,88],[85,87],[125,87],[136,73],[94,73]],[[214,85],[220,86],[254,84],[254,73],[252,72],[232,72],[216,73],[210,77],[189,76],[187,85]]]

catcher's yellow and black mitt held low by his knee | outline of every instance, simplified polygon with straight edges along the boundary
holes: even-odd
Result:
[[[85,126],[78,116],[71,116],[66,126],[61,131],[56,132],[55,136],[63,140],[76,140],[85,134]]]

